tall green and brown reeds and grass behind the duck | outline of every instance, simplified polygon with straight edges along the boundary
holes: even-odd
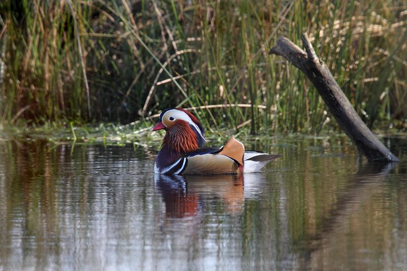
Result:
[[[268,55],[278,36],[300,44],[304,32],[366,123],[407,117],[405,0],[70,3],[0,4],[1,124],[242,104],[195,113],[213,130],[335,128],[304,75]]]

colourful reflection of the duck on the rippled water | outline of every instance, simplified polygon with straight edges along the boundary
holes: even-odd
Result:
[[[169,217],[195,216],[205,201],[220,198],[230,214],[242,212],[245,199],[256,198],[264,190],[264,173],[228,175],[155,175]]]

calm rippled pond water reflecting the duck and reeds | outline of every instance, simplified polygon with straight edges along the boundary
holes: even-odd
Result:
[[[406,270],[407,139],[385,142],[403,162],[285,138],[247,143],[283,155],[264,172],[174,178],[132,145],[3,140],[0,270]]]

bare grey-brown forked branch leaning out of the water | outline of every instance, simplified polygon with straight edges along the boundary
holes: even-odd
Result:
[[[319,58],[306,34],[301,36],[305,51],[287,38],[280,37],[270,54],[281,55],[311,80],[319,95],[339,124],[339,127],[356,144],[360,154],[370,162],[398,162],[370,131],[340,89],[325,63]]]

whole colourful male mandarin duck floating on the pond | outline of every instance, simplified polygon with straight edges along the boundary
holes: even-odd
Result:
[[[280,157],[245,151],[244,145],[232,136],[221,147],[205,147],[202,125],[190,112],[181,108],[162,111],[151,131],[165,130],[154,172],[159,174],[226,174],[258,172],[268,162]]]

